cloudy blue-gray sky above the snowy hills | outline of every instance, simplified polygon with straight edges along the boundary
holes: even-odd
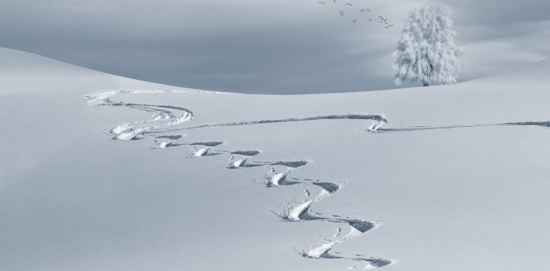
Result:
[[[0,46],[215,91],[395,88],[391,51],[419,1],[318,1],[0,0]],[[550,1],[439,2],[451,8],[456,44],[466,48],[459,81],[549,56]],[[394,26],[385,29],[378,16]]]

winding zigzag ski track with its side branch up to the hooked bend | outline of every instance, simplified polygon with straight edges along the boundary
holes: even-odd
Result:
[[[289,174],[292,170],[301,168],[311,160],[275,160],[275,161],[252,161],[251,157],[261,153],[260,150],[214,150],[213,147],[218,147],[224,144],[223,141],[204,141],[195,143],[182,143],[179,142],[181,138],[184,138],[183,134],[166,135],[164,133],[189,130],[196,128],[209,128],[220,126],[244,126],[253,124],[264,123],[281,123],[281,122],[296,122],[296,121],[317,121],[317,120],[336,120],[336,119],[353,119],[353,120],[368,120],[372,124],[367,128],[369,131],[376,131],[387,121],[381,115],[369,115],[364,113],[349,113],[349,114],[334,114],[324,116],[312,116],[304,118],[284,118],[276,120],[260,120],[260,121],[240,121],[232,123],[217,123],[207,124],[204,126],[194,126],[189,128],[179,128],[166,130],[169,126],[175,126],[186,121],[192,121],[194,114],[188,108],[180,106],[167,106],[167,105],[152,105],[152,104],[139,104],[139,103],[124,103],[120,101],[112,101],[111,96],[125,94],[125,93],[139,93],[139,94],[151,94],[151,93],[173,93],[175,91],[148,91],[148,90],[114,90],[114,91],[102,91],[94,95],[86,96],[85,99],[88,103],[96,103],[96,106],[111,106],[111,107],[126,107],[134,108],[140,111],[151,113],[151,118],[146,121],[134,121],[130,123],[123,123],[114,128],[110,128],[105,133],[111,136],[114,140],[139,140],[148,138],[156,143],[155,148],[169,148],[180,145],[187,145],[192,148],[191,153],[187,155],[188,158],[199,158],[211,155],[229,155],[229,162],[226,164],[226,168],[229,169],[243,169],[254,167],[266,167],[270,168],[269,177],[265,178],[264,183],[268,188],[276,188],[285,185],[301,185],[305,188],[304,192],[306,196],[301,199],[301,202],[294,203],[288,210],[284,211],[284,214],[280,214],[283,221],[286,222],[304,222],[304,221],[321,221],[327,223],[333,223],[336,225],[336,235],[334,240],[322,242],[321,244],[311,243],[309,249],[299,251],[299,254],[303,257],[314,259],[341,259],[341,260],[353,260],[364,262],[366,266],[364,269],[384,267],[386,265],[393,265],[395,260],[390,260],[382,257],[362,257],[361,254],[354,255],[341,255],[341,252],[333,252],[334,246],[350,240],[353,237],[363,235],[370,230],[376,229],[381,223],[368,220],[354,219],[349,217],[343,217],[335,214],[317,213],[311,211],[314,204],[319,202],[330,195],[337,193],[341,189],[341,184],[337,182],[331,182],[326,180],[314,180],[314,179],[299,179],[292,178]],[[185,92],[185,91],[183,91]],[[318,193],[312,193],[313,190],[319,190]],[[348,231],[344,231],[343,227],[349,228]],[[347,233],[346,233],[347,232]]]

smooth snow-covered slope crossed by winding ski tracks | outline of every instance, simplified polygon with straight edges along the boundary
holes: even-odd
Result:
[[[0,58],[0,270],[549,263],[549,61],[452,86],[254,96]]]

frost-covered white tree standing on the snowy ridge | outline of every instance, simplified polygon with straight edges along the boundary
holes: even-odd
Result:
[[[456,83],[459,56],[464,48],[454,44],[456,31],[449,9],[441,4],[420,4],[409,11],[401,40],[393,53],[395,83],[404,81]]]

